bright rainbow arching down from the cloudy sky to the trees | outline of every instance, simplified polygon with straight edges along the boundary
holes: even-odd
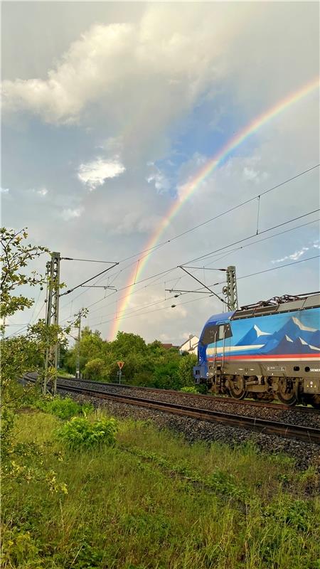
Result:
[[[294,93],[290,93],[290,95],[282,99],[280,102],[277,102],[277,104],[267,110],[267,112],[263,112],[262,115],[252,120],[252,122],[247,124],[244,129],[235,134],[235,137],[230,139],[227,144],[225,144],[225,146],[218,152],[218,154],[215,154],[213,158],[208,160],[193,179],[188,181],[187,184],[183,186],[180,195],[169,208],[168,213],[166,213],[166,216],[164,216],[164,218],[161,220],[161,223],[159,223],[158,227],[147,241],[146,247],[144,248],[146,255],[140,257],[140,259],[137,261],[137,265],[134,266],[134,270],[132,271],[132,274],[130,275],[127,282],[127,294],[122,297],[122,303],[119,307],[119,310],[117,310],[116,316],[114,317],[114,322],[112,324],[112,329],[110,332],[112,339],[117,334],[117,330],[121,324],[122,317],[124,316],[124,312],[126,311],[129,304],[135,282],[139,280],[139,277],[142,275],[144,267],[146,266],[146,262],[154,251],[156,243],[158,243],[161,235],[174,219],[178,211],[180,211],[183,204],[198,189],[198,187],[201,185],[201,182],[206,179],[206,176],[215,171],[215,169],[220,166],[223,160],[225,160],[225,158],[227,158],[231,152],[233,152],[233,150],[238,148],[242,142],[250,137],[251,134],[257,132],[257,130],[267,124],[267,122],[280,115],[280,113],[282,113],[284,110],[287,110],[287,108],[291,107],[291,105],[294,105],[294,103],[302,100],[304,97],[306,97],[306,95],[309,95],[309,93],[313,92],[317,87],[319,87],[319,78],[312,80],[310,83],[307,83],[304,85],[304,87],[295,91]]]

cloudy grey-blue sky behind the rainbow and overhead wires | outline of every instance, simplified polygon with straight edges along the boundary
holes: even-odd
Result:
[[[210,294],[169,292],[201,287],[184,264],[207,286],[222,283],[220,296],[215,269],[235,265],[240,306],[318,290],[318,87],[183,199],[238,133],[317,78],[316,2],[4,1],[2,225],[27,227],[62,257],[119,262],[90,281],[99,288],[60,299],[60,323],[88,307],[83,323],[104,339],[120,329],[180,345],[224,309]],[[164,245],[144,258],[166,219]],[[61,280],[72,289],[108,266],[63,260]],[[7,335],[44,317],[44,294],[33,290],[35,305],[9,319]]]

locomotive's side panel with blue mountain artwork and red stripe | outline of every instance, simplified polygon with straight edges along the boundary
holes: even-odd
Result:
[[[229,332],[228,338],[208,344],[206,359],[223,359],[225,373],[320,378],[319,308],[231,317],[223,326],[232,336]]]

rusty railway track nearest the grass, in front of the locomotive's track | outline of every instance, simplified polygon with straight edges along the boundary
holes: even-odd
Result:
[[[31,377],[29,375],[26,375],[25,378],[28,381],[36,381],[34,377]],[[79,387],[78,385],[66,385],[65,383],[59,382],[58,389],[68,391],[70,393],[77,393],[78,395],[87,395],[94,398],[116,401],[117,403],[125,403],[127,405],[136,405],[138,407],[159,410],[164,413],[183,415],[185,417],[197,420],[218,422],[220,424],[233,427],[242,427],[249,430],[263,432],[267,435],[279,435],[282,437],[302,440],[304,442],[313,442],[320,444],[320,429],[316,427],[292,425],[289,423],[274,420],[253,418],[247,415],[237,415],[216,410],[194,408],[189,407],[188,405],[169,403],[166,401],[148,399],[146,397],[135,397],[133,395],[108,393],[107,390],[97,388],[91,389],[85,387],[84,385]],[[277,405],[277,407],[279,407],[279,405]]]

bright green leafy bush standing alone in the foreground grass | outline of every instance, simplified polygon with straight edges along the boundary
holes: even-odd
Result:
[[[57,435],[70,450],[78,450],[113,446],[116,432],[117,422],[114,419],[101,418],[90,422],[87,418],[73,417],[58,430]]]

